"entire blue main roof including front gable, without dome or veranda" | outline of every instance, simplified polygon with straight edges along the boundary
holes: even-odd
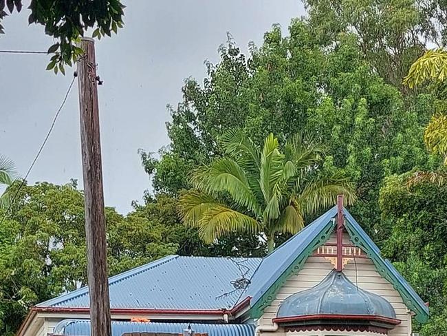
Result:
[[[393,284],[406,306],[415,312],[419,322],[428,319],[428,308],[388,260],[380,255],[377,245],[369,238],[347,209],[345,227],[351,241],[360,247],[375,264],[376,270]],[[329,240],[336,225],[337,208],[296,233],[265,258],[165,258],[109,278],[111,308],[142,308],[168,310],[220,311],[235,308],[251,297],[250,315],[261,317],[265,307],[290,275],[297,273],[309,255]],[[250,279],[245,291],[236,291],[233,282]],[[87,308],[88,288],[67,293],[37,305],[52,308]]]

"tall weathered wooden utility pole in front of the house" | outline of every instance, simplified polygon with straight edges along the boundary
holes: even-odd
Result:
[[[83,156],[87,277],[90,295],[91,336],[111,336],[107,242],[99,133],[98,87],[95,44],[80,41],[83,56],[78,60],[80,143]]]

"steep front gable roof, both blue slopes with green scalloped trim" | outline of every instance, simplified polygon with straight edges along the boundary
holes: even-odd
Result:
[[[309,255],[315,249],[329,240],[336,225],[337,207],[329,209],[322,216],[314,220],[304,230],[296,233],[285,244],[264,258],[259,269],[254,273],[252,282],[247,289],[247,295],[252,296],[250,302],[252,308],[251,317],[259,318],[263,314],[264,308],[270,306],[276,292],[285,284],[290,275],[298,273],[305,264]],[[375,269],[388,280],[398,291],[407,308],[415,313],[418,322],[426,322],[428,319],[428,307],[417,295],[410,284],[395,269],[389,260],[385,260],[380,255],[380,249],[371,240],[369,235],[360,227],[360,224],[351,216],[351,213],[343,207],[345,215],[345,228],[347,229],[351,241],[360,247],[368,257],[371,258]],[[272,272],[272,269],[278,271]]]

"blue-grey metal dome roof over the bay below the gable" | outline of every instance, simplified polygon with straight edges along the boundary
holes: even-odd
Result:
[[[306,315],[362,315],[395,319],[393,306],[383,297],[354,285],[342,272],[331,271],[320,284],[287,297],[277,314],[281,317]]]

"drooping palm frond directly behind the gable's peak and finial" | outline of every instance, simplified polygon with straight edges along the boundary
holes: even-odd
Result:
[[[340,176],[309,180],[297,198],[303,216],[334,206],[338,195],[345,196],[346,204],[353,204],[356,192],[347,179]]]

